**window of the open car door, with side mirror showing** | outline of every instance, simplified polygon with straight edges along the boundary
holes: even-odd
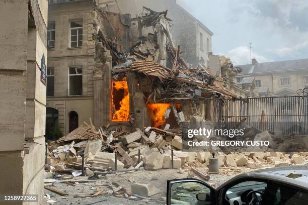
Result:
[[[179,182],[171,187],[171,204],[210,205],[211,190],[197,182]]]

